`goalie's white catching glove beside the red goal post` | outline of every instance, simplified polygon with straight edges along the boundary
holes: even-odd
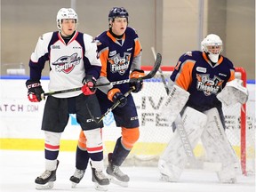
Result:
[[[217,94],[218,100],[220,100],[225,106],[236,104],[237,102],[244,104],[248,100],[248,90],[243,85],[243,81],[240,79],[234,79],[226,84],[224,89]]]

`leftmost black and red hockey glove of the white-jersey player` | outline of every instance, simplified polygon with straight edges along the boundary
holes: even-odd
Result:
[[[28,100],[31,102],[40,102],[42,99],[44,100],[44,90],[40,81],[33,81],[28,79],[26,86],[28,88]]]

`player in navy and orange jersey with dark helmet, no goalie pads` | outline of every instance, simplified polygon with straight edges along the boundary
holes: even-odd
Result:
[[[108,31],[97,36],[98,51],[102,68],[97,84],[138,78],[144,76],[140,69],[141,45],[139,37],[133,28],[128,26],[128,12],[123,7],[114,7],[108,14]],[[139,139],[139,119],[132,95],[124,96],[124,92],[134,87],[133,92],[140,92],[142,81],[130,84],[116,84],[100,87],[96,94],[100,101],[101,112],[105,113],[113,103],[120,101],[119,108],[112,112],[116,126],[121,127],[121,137],[116,140],[113,153],[108,154],[107,173],[110,181],[121,186],[127,186],[129,176],[120,170],[126,156]],[[76,172],[70,178],[75,184],[83,178],[86,169],[86,159],[89,156],[84,145],[84,133],[81,132],[76,149]]]

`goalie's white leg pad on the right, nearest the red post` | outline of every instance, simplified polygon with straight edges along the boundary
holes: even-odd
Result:
[[[212,108],[204,113],[207,115],[208,121],[201,140],[207,159],[210,162],[222,164],[222,168],[220,172],[218,172],[220,182],[236,180],[235,164],[238,164],[238,160],[224,132],[219,112],[217,108]]]

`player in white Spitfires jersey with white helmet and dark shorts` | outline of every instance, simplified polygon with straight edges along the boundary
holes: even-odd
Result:
[[[105,189],[109,184],[103,172],[100,131],[103,124],[94,123],[88,112],[90,108],[93,116],[101,116],[93,88],[100,76],[101,63],[92,36],[76,31],[77,21],[73,9],[61,8],[57,14],[59,31],[40,36],[29,60],[30,78],[26,85],[31,102],[44,100],[40,79],[46,61],[50,66],[50,92],[82,87],[81,91],[50,94],[47,97],[41,127],[44,130],[45,172],[36,178],[36,189],[53,188],[59,165],[60,136],[68,124],[69,114],[76,114],[76,120],[86,135],[92,181]]]

